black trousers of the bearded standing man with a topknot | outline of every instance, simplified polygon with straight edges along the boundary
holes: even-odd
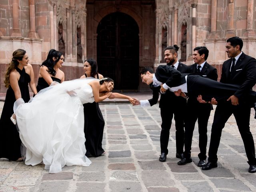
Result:
[[[183,98],[182,98],[183,99]],[[180,104],[180,106],[176,106]],[[183,106],[183,107],[181,107]],[[170,135],[170,128],[172,125],[172,118],[175,120],[175,136],[176,136],[176,152],[183,153],[184,148],[184,112],[186,111],[186,100],[183,99],[182,103],[173,103],[172,106],[160,107],[160,113],[162,118],[161,134],[160,134],[160,146],[161,153],[168,154],[168,142]]]

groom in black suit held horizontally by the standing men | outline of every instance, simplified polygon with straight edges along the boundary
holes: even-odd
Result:
[[[152,72],[151,67],[145,67],[141,70],[140,76],[143,83],[150,85],[159,92],[169,90],[177,96],[202,96],[206,102],[211,102],[212,98],[216,101],[228,100],[228,98],[238,90],[238,85],[223,84],[208,78],[204,78],[197,74],[181,74],[171,66],[160,65],[156,68],[156,72]],[[185,94],[186,93],[186,94]],[[241,98],[241,102],[250,101],[252,104],[256,102],[256,92],[248,91]],[[139,105],[140,101],[136,100],[134,105]]]

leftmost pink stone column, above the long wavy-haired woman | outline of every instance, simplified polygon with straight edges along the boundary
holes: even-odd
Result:
[[[20,23],[19,23],[19,10],[18,10],[19,0],[12,0],[12,23],[13,30],[11,36],[21,37],[20,33]]]

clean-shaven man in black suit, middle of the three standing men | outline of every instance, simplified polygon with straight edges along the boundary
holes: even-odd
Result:
[[[210,66],[206,62],[208,54],[209,50],[204,46],[194,48],[193,59],[195,64],[189,66],[189,72],[194,74],[200,74],[205,78],[210,78],[217,81],[217,69],[213,66]],[[200,149],[200,153],[198,154],[198,166],[202,167],[206,164],[207,124],[211,110],[212,105],[210,103],[199,103],[196,96],[188,98],[188,106],[186,111],[186,114],[188,115],[185,118],[184,158],[178,162],[178,165],[185,165],[192,162],[191,145],[196,120],[198,120]]]

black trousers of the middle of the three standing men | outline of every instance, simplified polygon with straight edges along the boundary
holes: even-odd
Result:
[[[185,118],[185,151],[184,157],[191,157],[191,145],[194,127],[196,120],[198,120],[199,133],[199,149],[198,157],[200,160],[206,160],[206,146],[207,146],[207,125],[210,117],[211,105],[199,103],[196,99],[188,99],[187,116]]]

